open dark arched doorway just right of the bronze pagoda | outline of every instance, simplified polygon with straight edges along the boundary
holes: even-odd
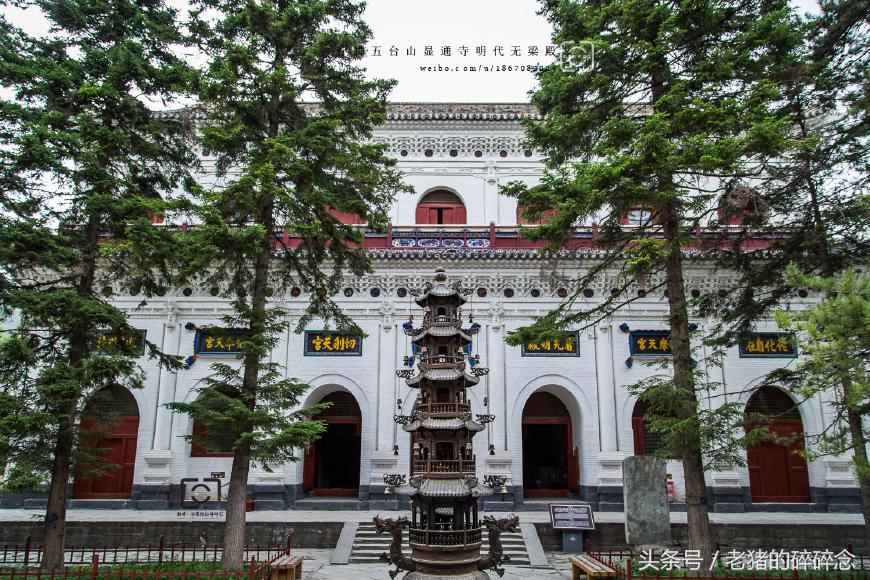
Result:
[[[565,497],[579,490],[571,416],[558,397],[538,392],[523,408],[523,495]]]

